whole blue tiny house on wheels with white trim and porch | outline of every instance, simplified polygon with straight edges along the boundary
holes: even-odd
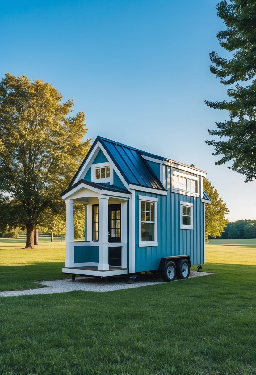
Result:
[[[62,272],[109,276],[161,272],[187,278],[205,263],[206,172],[98,136],[70,186]],[[74,241],[74,203],[84,205],[84,241]]]

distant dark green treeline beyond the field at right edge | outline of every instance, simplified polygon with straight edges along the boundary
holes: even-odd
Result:
[[[256,238],[256,220],[244,219],[228,222],[221,233],[221,237],[216,238],[220,240]]]

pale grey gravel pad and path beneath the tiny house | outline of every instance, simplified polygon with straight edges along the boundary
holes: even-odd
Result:
[[[210,272],[197,272],[190,271],[189,278],[196,276],[211,275]],[[175,279],[175,281],[182,281]],[[91,277],[79,277],[72,282],[71,279],[55,280],[55,281],[42,281],[38,284],[46,285],[45,288],[26,289],[17,291],[0,292],[0,297],[15,297],[24,296],[25,294],[53,294],[53,293],[66,293],[73,290],[84,290],[91,292],[110,292],[113,290],[130,289],[145,287],[146,285],[162,284],[163,279],[161,276],[152,274],[138,275],[134,284],[128,284],[125,277],[109,278],[108,284],[105,284],[102,279]]]

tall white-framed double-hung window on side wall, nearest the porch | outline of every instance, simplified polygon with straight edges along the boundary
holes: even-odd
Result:
[[[139,246],[157,246],[157,201],[139,195]]]

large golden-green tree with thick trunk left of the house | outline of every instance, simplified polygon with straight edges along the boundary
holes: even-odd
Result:
[[[57,214],[86,155],[85,115],[49,83],[6,74],[0,82],[0,227],[26,227],[26,248],[44,211]]]

